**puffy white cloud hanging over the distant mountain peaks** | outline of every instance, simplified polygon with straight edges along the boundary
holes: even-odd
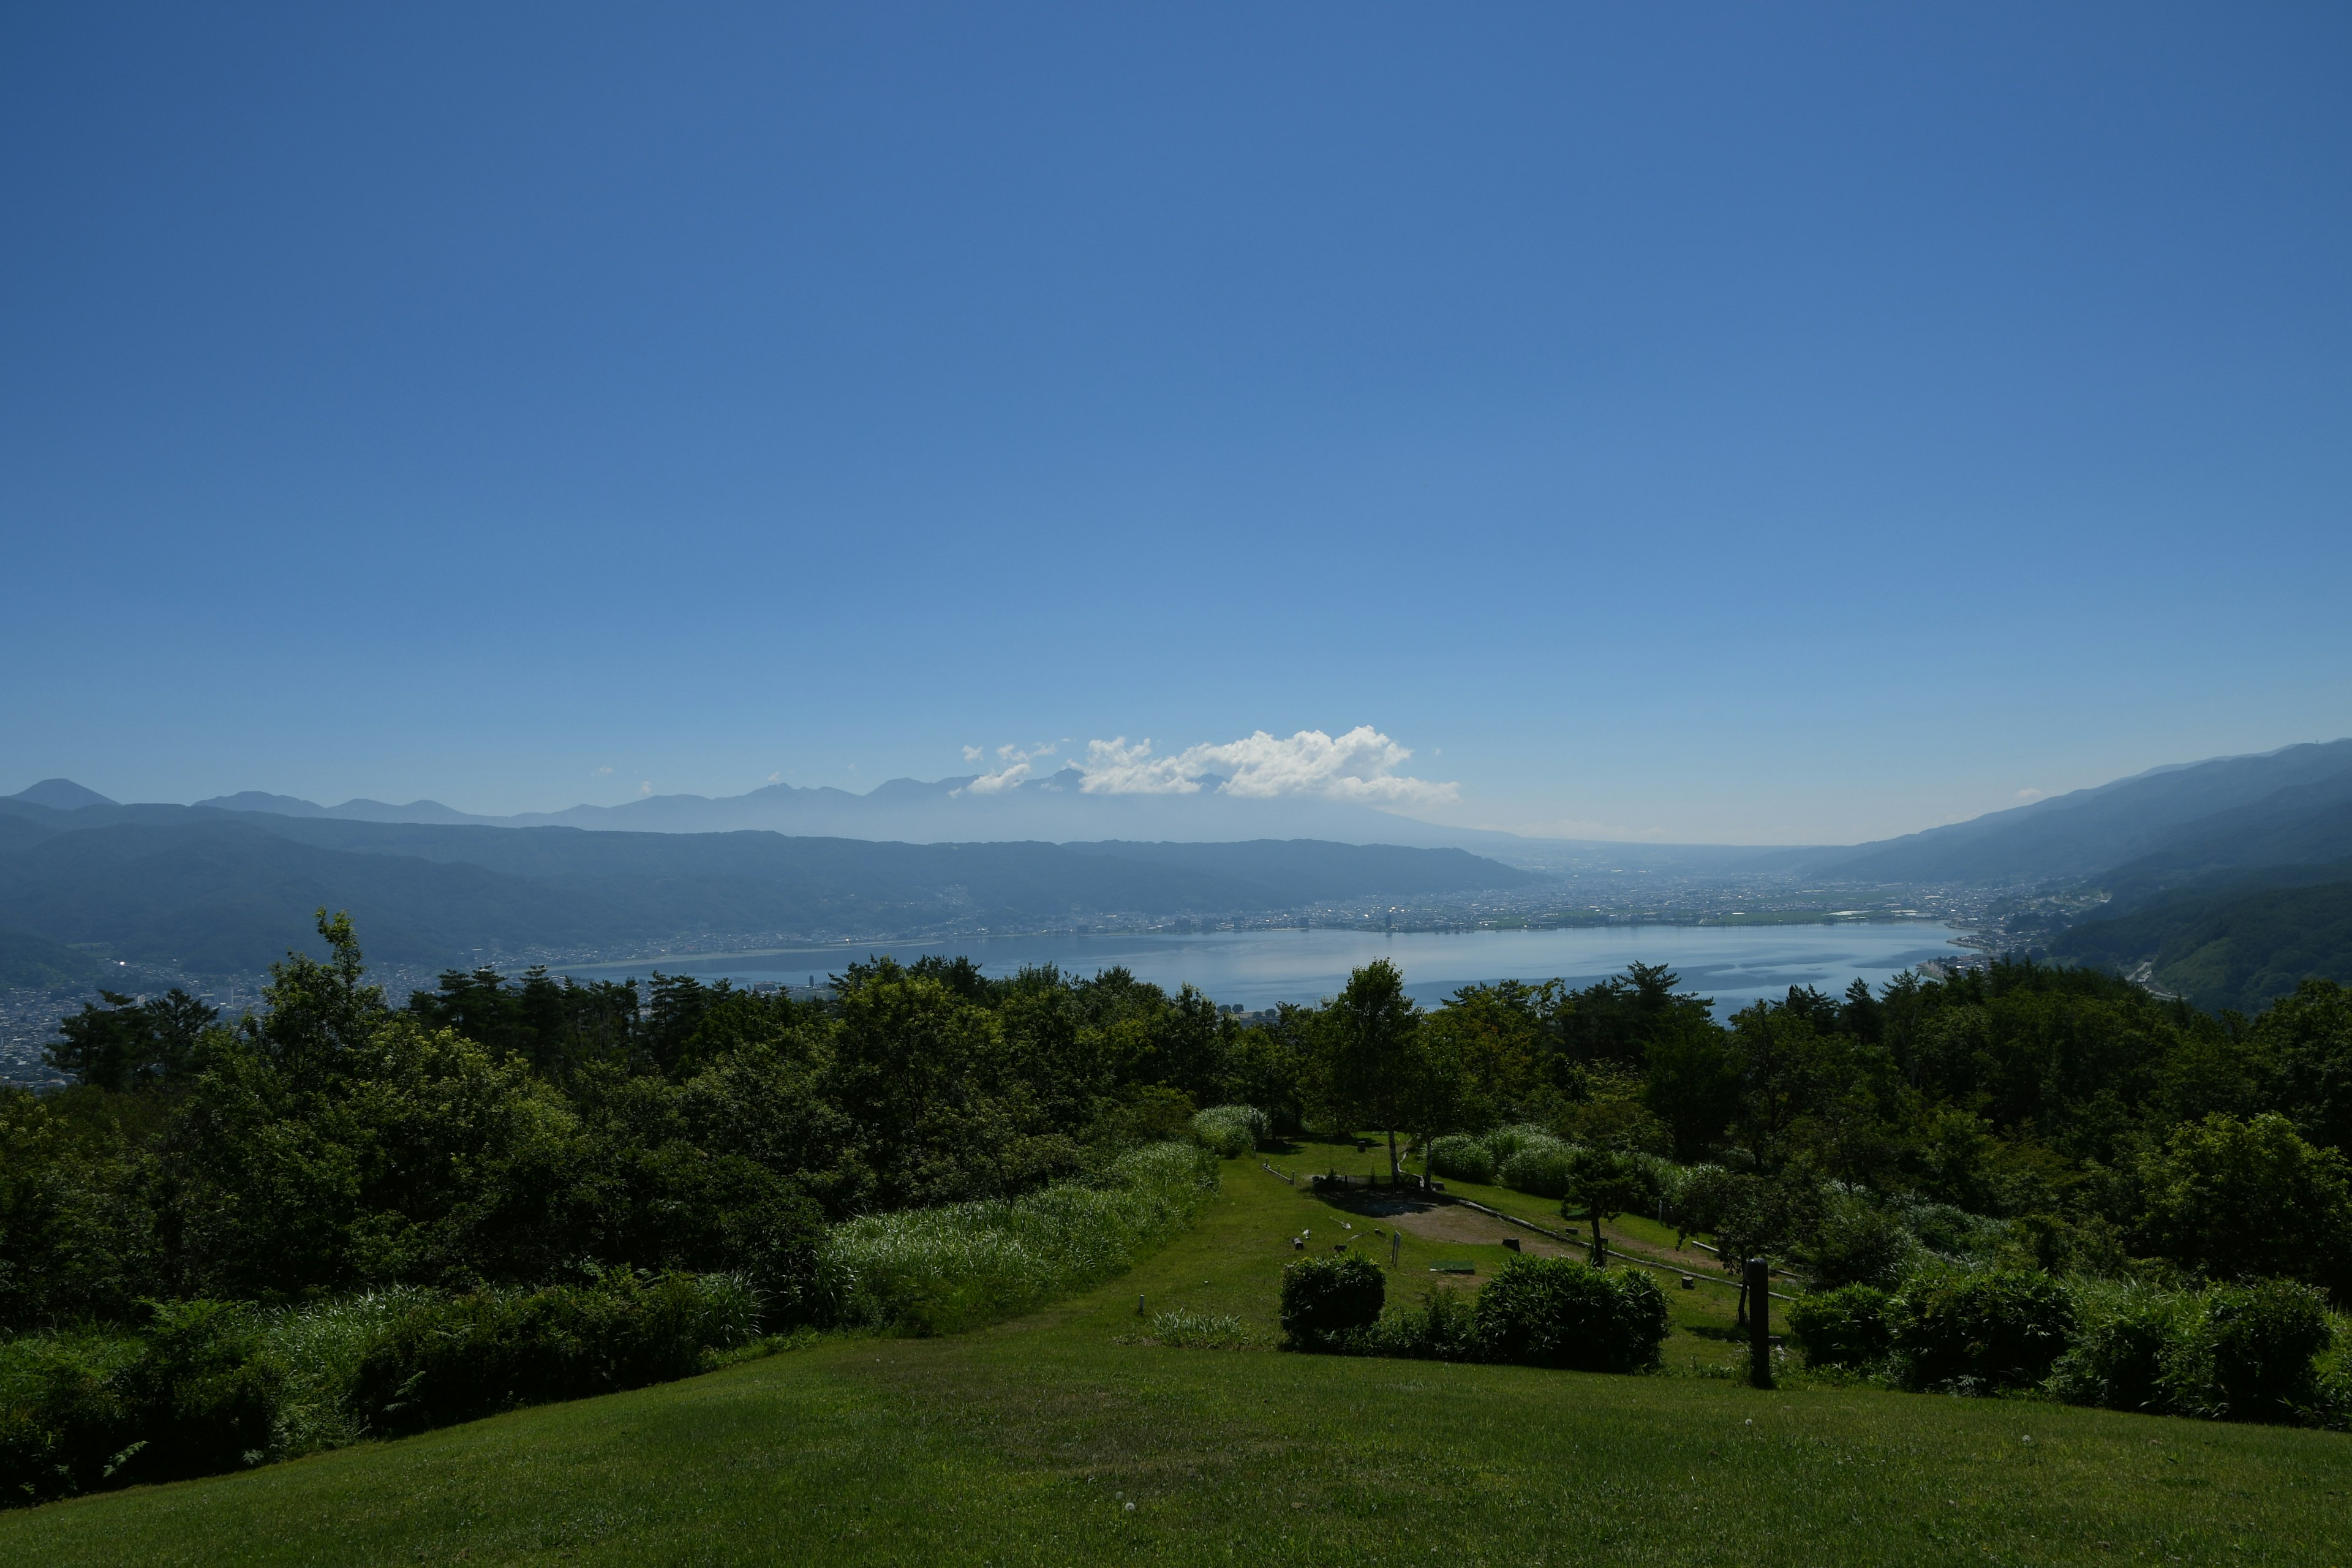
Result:
[[[1435,806],[1461,795],[1461,785],[1397,773],[1411,755],[1369,724],[1336,741],[1319,729],[1301,729],[1287,741],[1261,729],[1247,741],[1188,745],[1167,757],[1155,757],[1150,741],[1129,745],[1127,736],[1117,736],[1087,743],[1080,788],[1089,795],[1197,795],[1207,788],[1204,776],[1223,776],[1216,790],[1251,799],[1319,795]]]

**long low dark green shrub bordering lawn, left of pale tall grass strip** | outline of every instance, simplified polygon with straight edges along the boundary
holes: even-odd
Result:
[[[689,1378],[757,1335],[760,1305],[724,1274],[609,1274],[593,1286],[419,1302],[360,1359],[353,1408],[416,1432],[492,1410]]]

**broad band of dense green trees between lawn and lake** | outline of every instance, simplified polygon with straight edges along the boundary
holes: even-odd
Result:
[[[452,971],[390,1006],[350,922],[320,936],[259,1013],[87,1006],[52,1046],[75,1084],[0,1098],[21,1500],[760,1335],[978,1321],[1054,1281],[988,1274],[976,1237],[1025,1227],[1063,1276],[1108,1276],[1197,1201],[1185,1147],[1232,1128],[1364,1135],[1399,1178],[1416,1152],[1442,1175],[1550,1150],[1550,1187],[1505,1180],[1569,1213],[1581,1185],[1592,1213],[1656,1204],[1816,1291],[1943,1260],[2352,1293],[2352,992],[2326,980],[2209,1016],[2004,959],[1717,1018],[1661,966],[1421,1009],[1371,964],[1242,1025],[1117,969],[875,959],[816,1001]],[[301,1415],[303,1378],[334,1410]]]

